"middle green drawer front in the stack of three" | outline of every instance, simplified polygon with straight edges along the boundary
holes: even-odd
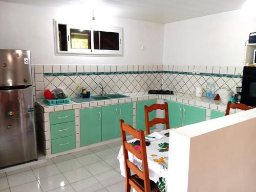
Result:
[[[75,122],[51,125],[51,139],[75,135]]]

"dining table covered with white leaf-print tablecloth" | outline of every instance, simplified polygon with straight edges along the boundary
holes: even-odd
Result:
[[[150,179],[153,180],[158,188],[165,192],[167,191],[167,179],[168,179],[168,152],[169,152],[169,129],[157,132],[162,135],[162,138],[151,141],[149,146],[146,146],[147,164]],[[147,138],[147,137],[145,137]],[[127,142],[136,147],[135,140],[131,139]],[[129,160],[136,164],[140,170],[142,170],[142,161],[128,152]],[[118,153],[117,159],[120,163],[121,175],[125,177],[125,166],[123,157],[123,148]]]

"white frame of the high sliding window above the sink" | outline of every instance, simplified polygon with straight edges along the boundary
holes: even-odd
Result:
[[[56,38],[56,55],[105,55],[105,56],[119,56],[123,54],[123,28],[108,26],[108,27],[90,27],[90,26],[82,26],[82,25],[70,25],[65,22],[59,22],[54,20],[55,22],[55,38]],[[59,29],[58,25],[67,25],[67,45],[68,51],[60,51],[59,49]],[[71,49],[71,38],[70,38],[70,29],[82,29],[91,31],[91,49]],[[105,31],[105,32],[115,32],[119,33],[119,50],[94,50],[94,31]]]

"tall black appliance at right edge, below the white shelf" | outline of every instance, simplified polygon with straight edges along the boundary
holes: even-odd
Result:
[[[256,106],[256,67],[244,67],[241,103]]]

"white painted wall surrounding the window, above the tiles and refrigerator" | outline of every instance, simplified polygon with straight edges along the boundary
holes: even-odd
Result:
[[[91,22],[80,8],[48,8],[0,2],[0,49],[31,50],[33,64],[162,64],[164,25],[132,19],[96,16],[104,25],[124,27],[123,56],[56,56],[53,19]],[[87,20],[88,19],[88,20]],[[145,51],[141,46],[147,47]]]

